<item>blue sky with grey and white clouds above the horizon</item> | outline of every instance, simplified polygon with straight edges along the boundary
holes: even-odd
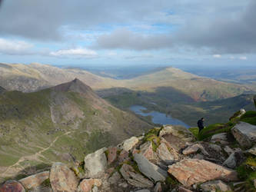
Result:
[[[0,62],[254,65],[255,0],[0,0]]]

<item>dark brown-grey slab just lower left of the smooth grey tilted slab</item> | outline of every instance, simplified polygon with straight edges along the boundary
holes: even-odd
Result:
[[[153,187],[154,184],[151,180],[143,177],[141,174],[135,172],[134,168],[131,165],[123,164],[120,169],[121,175],[127,180],[128,184],[131,184],[135,187]]]

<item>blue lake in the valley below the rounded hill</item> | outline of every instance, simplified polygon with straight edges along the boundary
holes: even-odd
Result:
[[[135,112],[135,114],[140,114],[142,116],[151,116],[152,122],[155,124],[174,124],[174,125],[182,125],[187,128],[191,127],[188,124],[185,124],[185,122],[183,121],[180,121],[175,118],[171,118],[171,115],[166,115],[158,111],[145,112],[143,110],[147,110],[147,108],[144,108],[141,105],[134,105],[134,106],[131,106],[129,109]]]

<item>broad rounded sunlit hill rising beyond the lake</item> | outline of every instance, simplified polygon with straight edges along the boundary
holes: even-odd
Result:
[[[194,101],[214,101],[252,91],[245,85],[203,78],[178,68],[164,68],[161,71],[125,80],[122,83],[126,88],[137,91],[155,91],[158,88],[171,87],[187,94]]]

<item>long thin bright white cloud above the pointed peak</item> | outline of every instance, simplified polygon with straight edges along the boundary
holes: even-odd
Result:
[[[72,48],[62,49],[50,52],[50,55],[55,57],[75,57],[75,58],[96,58],[98,56],[96,51],[87,48]]]

